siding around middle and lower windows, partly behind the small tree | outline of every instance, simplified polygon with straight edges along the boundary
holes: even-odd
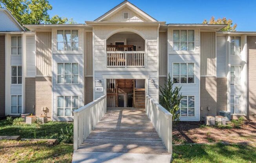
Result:
[[[172,63],[195,63],[195,83],[194,84],[174,84],[175,86],[181,86],[181,92],[184,96],[195,96],[195,116],[193,117],[181,117],[181,121],[199,121],[199,54],[169,54],[169,73],[172,76]]]

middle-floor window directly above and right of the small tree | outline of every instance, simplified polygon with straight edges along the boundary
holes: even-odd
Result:
[[[194,63],[173,63],[174,83],[194,83]]]

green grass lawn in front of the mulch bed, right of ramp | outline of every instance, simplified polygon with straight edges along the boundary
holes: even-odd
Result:
[[[173,146],[172,163],[255,163],[252,145],[179,145]]]

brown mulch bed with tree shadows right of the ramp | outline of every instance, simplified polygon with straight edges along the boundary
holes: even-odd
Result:
[[[201,127],[204,123],[180,121],[173,127],[173,144],[244,141],[256,142],[256,121],[245,121],[241,129]]]

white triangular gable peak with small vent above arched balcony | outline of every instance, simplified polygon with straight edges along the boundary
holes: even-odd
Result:
[[[125,0],[121,4],[103,14],[95,22],[157,22],[152,16],[148,15],[132,3]]]

